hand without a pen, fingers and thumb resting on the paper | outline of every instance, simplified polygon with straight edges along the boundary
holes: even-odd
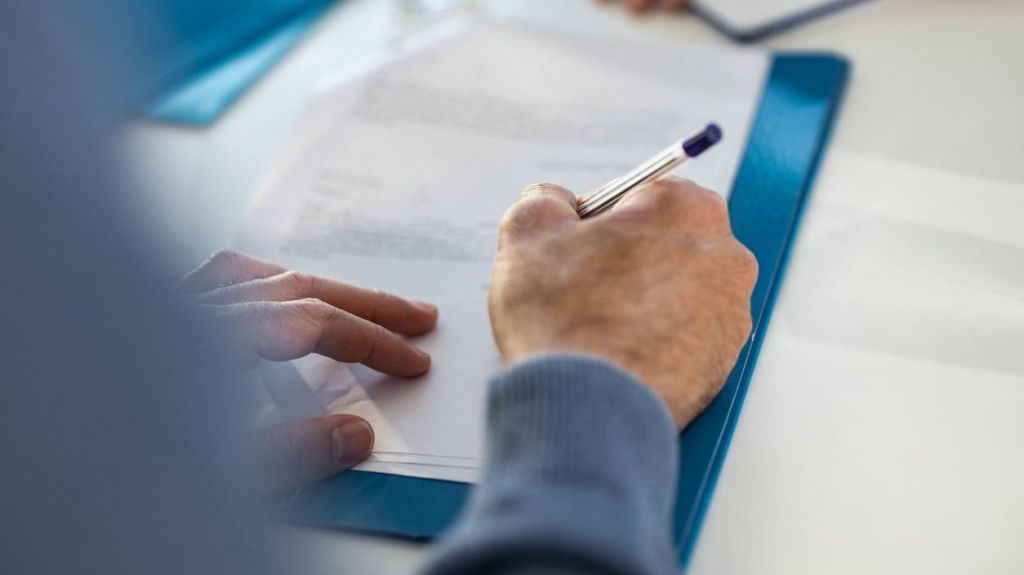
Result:
[[[412,378],[430,356],[401,336],[433,329],[437,308],[390,294],[308,275],[238,254],[219,252],[181,281],[234,333],[243,366],[259,359],[318,353]],[[348,414],[253,432],[256,466],[268,490],[331,477],[370,455],[374,431]]]

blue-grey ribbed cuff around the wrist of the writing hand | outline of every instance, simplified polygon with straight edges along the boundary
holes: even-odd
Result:
[[[672,414],[646,386],[600,359],[558,354],[513,365],[492,382],[487,433],[488,476],[628,476],[658,501],[674,495]]]

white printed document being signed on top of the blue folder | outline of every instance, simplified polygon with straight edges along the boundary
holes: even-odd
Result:
[[[503,213],[526,185],[578,194],[717,122],[685,168],[731,187],[768,59],[464,23],[310,103],[246,218],[242,250],[290,268],[435,303],[404,381],[322,357],[266,365],[264,415],[353,412],[376,431],[361,469],[473,481],[501,362],[487,320]]]

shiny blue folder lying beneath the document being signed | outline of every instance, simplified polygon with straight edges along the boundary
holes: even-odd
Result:
[[[830,54],[774,57],[729,197],[735,233],[761,266],[752,302],[754,333],[722,392],[679,437],[675,536],[683,566],[725,460],[848,74],[847,61]],[[429,539],[453,524],[470,489],[451,481],[348,472],[276,504],[307,525]]]

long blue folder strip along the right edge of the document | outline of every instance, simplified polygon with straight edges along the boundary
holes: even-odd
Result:
[[[772,63],[729,196],[734,232],[761,268],[751,301],[754,329],[722,392],[680,436],[675,528],[683,566],[721,473],[848,76],[849,63],[830,54],[779,54]],[[694,465],[700,462],[707,465]],[[688,472],[688,465],[705,473]]]

